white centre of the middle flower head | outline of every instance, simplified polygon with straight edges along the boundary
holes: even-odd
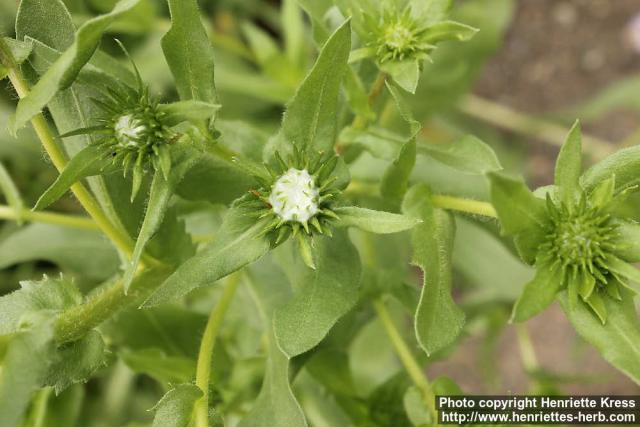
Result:
[[[283,220],[307,222],[318,213],[319,194],[306,169],[291,168],[273,184],[269,203]]]

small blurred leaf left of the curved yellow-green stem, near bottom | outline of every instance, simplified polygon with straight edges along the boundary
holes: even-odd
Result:
[[[193,359],[184,356],[168,356],[158,348],[124,351],[120,357],[134,372],[146,374],[166,384],[179,384],[192,380],[196,375]]]

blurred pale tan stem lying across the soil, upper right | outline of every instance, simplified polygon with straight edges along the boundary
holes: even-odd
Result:
[[[558,147],[564,143],[568,132],[564,126],[527,116],[475,95],[468,95],[458,105],[458,109],[476,119],[483,120],[512,132],[539,138],[548,144]],[[615,148],[614,145],[608,141],[585,135],[584,133],[582,134],[582,142],[585,150],[591,152],[597,159],[611,154]]]

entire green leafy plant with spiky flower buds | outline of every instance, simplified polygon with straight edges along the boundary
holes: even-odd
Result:
[[[434,396],[461,390],[425,363],[466,317],[504,327],[520,293],[513,321],[559,300],[640,382],[640,150],[582,173],[576,124],[554,185],[531,192],[480,139],[422,128],[469,86],[510,2],[246,1],[216,12],[231,30],[195,0],[168,0],[170,22],[154,4],[89,17],[103,6],[22,0],[0,38],[8,127],[57,169],[23,196],[0,164],[0,218],[16,223],[0,267],[62,272],[3,289],[3,426],[434,425]],[[258,4],[260,26],[243,17]],[[88,216],[64,213],[67,191]],[[484,280],[484,253],[507,279]],[[475,302],[453,297],[454,270],[479,282]]]

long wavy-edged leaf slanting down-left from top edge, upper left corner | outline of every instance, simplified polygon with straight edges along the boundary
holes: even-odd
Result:
[[[12,132],[15,133],[38,114],[58,91],[71,86],[98,48],[104,31],[138,2],[139,0],[121,0],[110,13],[92,18],[78,29],[75,41],[69,49],[53,63],[29,94],[18,102],[15,120],[11,123]]]

